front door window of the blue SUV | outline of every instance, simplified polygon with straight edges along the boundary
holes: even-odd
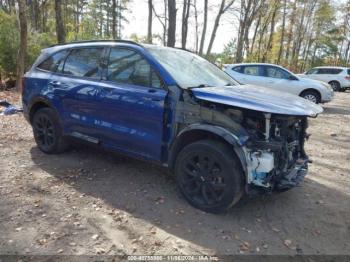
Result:
[[[150,64],[137,52],[112,48],[109,55],[107,80],[145,87],[162,87],[162,81]]]

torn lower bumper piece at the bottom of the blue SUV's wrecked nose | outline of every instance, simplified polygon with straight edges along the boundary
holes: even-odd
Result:
[[[298,159],[293,168],[291,168],[281,180],[275,185],[277,190],[288,190],[299,185],[307,174],[308,159]]]

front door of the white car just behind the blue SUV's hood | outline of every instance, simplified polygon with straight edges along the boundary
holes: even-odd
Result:
[[[264,65],[263,71],[268,87],[295,95],[300,93],[300,81],[288,71],[272,65]]]

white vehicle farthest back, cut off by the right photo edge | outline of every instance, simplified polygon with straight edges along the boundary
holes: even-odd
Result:
[[[349,67],[320,66],[312,68],[300,76],[329,83],[334,91],[345,91],[350,88]]]

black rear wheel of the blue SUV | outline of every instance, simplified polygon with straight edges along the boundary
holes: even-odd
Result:
[[[32,120],[34,139],[41,151],[46,154],[58,154],[68,149],[68,143],[62,135],[62,128],[56,112],[48,107],[35,112]]]

